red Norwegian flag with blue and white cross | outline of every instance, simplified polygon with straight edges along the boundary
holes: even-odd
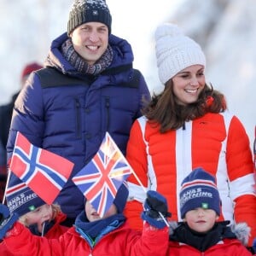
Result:
[[[67,183],[73,162],[37,148],[18,132],[9,168],[40,198],[52,204]]]

